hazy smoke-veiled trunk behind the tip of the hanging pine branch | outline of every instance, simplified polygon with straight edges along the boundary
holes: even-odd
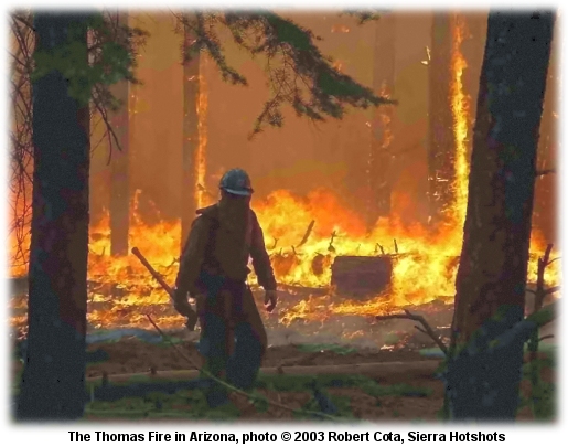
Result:
[[[396,19],[386,14],[376,23],[373,65],[373,89],[376,95],[394,96],[395,91],[395,35]],[[392,184],[389,181],[393,106],[381,106],[374,110],[368,160],[367,226],[372,228],[379,216],[390,213]]]

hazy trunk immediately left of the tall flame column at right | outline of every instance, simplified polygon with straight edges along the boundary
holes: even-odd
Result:
[[[430,223],[432,225],[443,221],[443,212],[452,201],[450,185],[453,179],[454,145],[450,107],[451,50],[451,18],[448,13],[435,12],[429,62],[428,148]]]

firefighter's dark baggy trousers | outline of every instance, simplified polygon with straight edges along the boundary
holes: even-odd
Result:
[[[244,281],[208,278],[208,294],[197,300],[200,352],[204,368],[238,389],[253,386],[267,347],[266,330],[253,292]]]

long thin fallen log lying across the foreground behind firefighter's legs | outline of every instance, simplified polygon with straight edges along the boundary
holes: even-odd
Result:
[[[356,363],[339,365],[314,365],[314,366],[272,366],[261,368],[261,374],[290,374],[290,375],[312,375],[312,374],[361,374],[373,379],[392,377],[399,375],[401,380],[408,377],[433,377],[436,369],[441,360],[418,360],[411,362],[384,362],[384,363]],[[108,375],[106,380],[112,383],[124,383],[131,380],[147,379],[148,381],[163,380],[192,380],[197,379],[197,370],[179,371],[156,371],[132,374]],[[103,376],[87,377],[87,382],[101,381]]]

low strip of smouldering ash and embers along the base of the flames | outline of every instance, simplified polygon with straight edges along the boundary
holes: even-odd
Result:
[[[254,295],[257,305],[260,306],[261,290],[255,290]],[[12,306],[12,326],[25,332],[25,296],[14,297]],[[302,343],[349,344],[374,350],[431,347],[429,340],[416,333],[411,322],[377,322],[374,319],[376,315],[396,312],[397,309],[399,308],[384,301],[342,301],[330,295],[317,296],[282,290],[279,309],[274,315],[262,313],[262,317],[269,344],[275,347]],[[448,326],[453,308],[442,301],[435,301],[411,309],[427,315],[428,320],[435,326]],[[168,301],[154,304],[151,296],[140,297],[138,300],[132,300],[129,296],[96,296],[96,299],[88,304],[88,332],[117,328],[152,330],[151,323],[144,317],[146,313],[152,315],[161,328],[174,331],[176,337],[194,341],[199,334],[181,331],[184,319],[175,313]]]

